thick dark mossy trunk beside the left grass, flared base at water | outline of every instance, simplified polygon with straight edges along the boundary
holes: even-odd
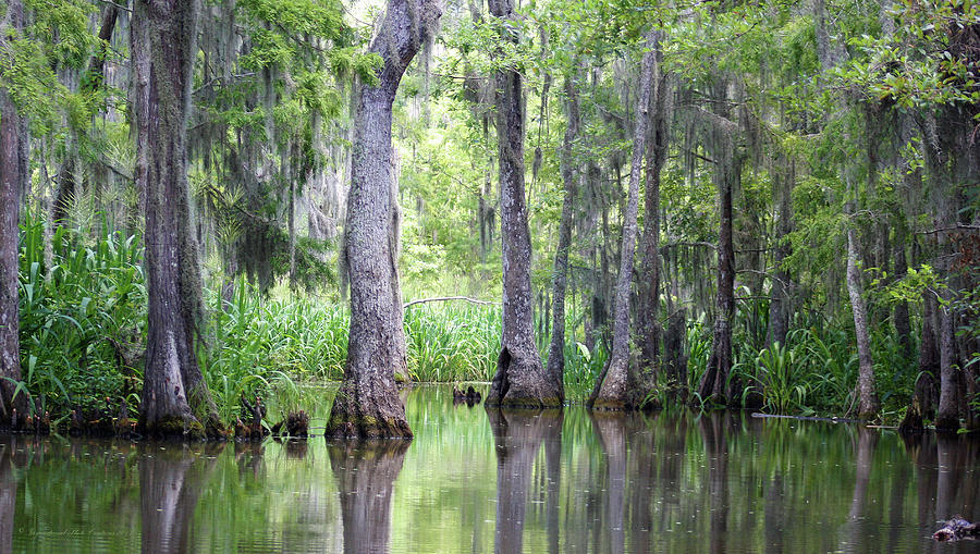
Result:
[[[197,365],[204,305],[187,183],[198,12],[196,0],[137,0],[131,28],[136,184],[146,201],[149,296],[139,428],[151,436],[220,432]]]

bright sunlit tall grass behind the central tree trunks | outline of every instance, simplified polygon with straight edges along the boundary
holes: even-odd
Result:
[[[340,380],[347,356],[345,305],[310,296],[262,299],[238,282],[233,301],[215,306],[213,347],[205,361],[212,393],[236,398],[268,386],[272,377]],[[408,373],[414,381],[489,381],[497,370],[500,308],[467,303],[426,303],[405,310]],[[605,353],[565,347],[568,396],[585,397]]]

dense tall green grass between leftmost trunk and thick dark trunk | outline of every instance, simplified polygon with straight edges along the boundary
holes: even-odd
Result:
[[[51,410],[102,406],[142,390],[140,364],[124,366],[145,337],[143,246],[102,227],[58,227],[45,262],[45,223],[21,233],[21,359],[27,390]],[[133,358],[138,360],[138,356]],[[135,406],[134,406],[135,407]]]

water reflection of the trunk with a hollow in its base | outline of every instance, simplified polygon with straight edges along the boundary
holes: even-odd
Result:
[[[488,409],[497,452],[497,532],[494,552],[523,552],[527,492],[541,443],[562,431],[559,410]]]

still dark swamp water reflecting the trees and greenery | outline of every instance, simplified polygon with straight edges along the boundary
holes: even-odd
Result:
[[[406,404],[411,443],[0,438],[0,554],[980,552],[930,539],[938,519],[980,519],[977,441],[742,414],[502,415],[454,408],[441,386]]]

